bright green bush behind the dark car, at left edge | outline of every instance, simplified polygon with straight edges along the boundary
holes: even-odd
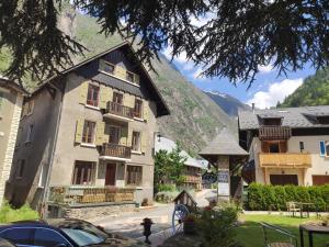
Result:
[[[0,223],[10,223],[18,221],[38,220],[38,213],[32,210],[27,204],[20,209],[12,209],[8,202],[0,207]]]

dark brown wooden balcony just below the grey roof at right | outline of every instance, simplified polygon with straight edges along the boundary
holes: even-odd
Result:
[[[261,126],[259,128],[259,139],[288,139],[292,136],[290,126]]]

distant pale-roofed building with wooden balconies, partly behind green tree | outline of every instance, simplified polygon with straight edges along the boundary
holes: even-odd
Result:
[[[177,148],[177,144],[163,136],[156,136],[155,139],[155,153],[159,150],[172,151]],[[180,156],[184,157],[186,160],[184,162],[185,168],[183,176],[185,177],[184,187],[193,188],[196,190],[202,189],[202,173],[206,170],[206,160],[192,158],[186,151],[182,150]]]

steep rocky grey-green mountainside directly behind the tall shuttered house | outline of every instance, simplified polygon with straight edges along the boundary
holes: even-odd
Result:
[[[63,11],[59,26],[88,48],[84,57],[76,57],[75,61],[122,42],[118,35],[105,37],[100,34],[95,19],[82,15],[69,7]],[[0,56],[0,69],[5,67],[3,64],[8,64],[8,57],[10,56]],[[237,133],[237,124],[213,100],[189,82],[163,55],[160,55],[160,60],[155,59],[152,65],[157,74],[150,71],[150,75],[171,112],[170,115],[158,119],[159,131],[163,136],[179,141],[185,150],[196,155],[224,126]],[[26,86],[33,88],[34,85],[29,82]]]

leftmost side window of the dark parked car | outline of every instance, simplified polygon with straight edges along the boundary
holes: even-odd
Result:
[[[33,245],[34,228],[10,228],[0,233],[0,237],[11,240],[15,245]]]

